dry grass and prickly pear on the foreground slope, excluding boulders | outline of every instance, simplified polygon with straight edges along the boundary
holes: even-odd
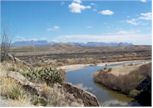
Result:
[[[61,83],[64,81],[64,74],[59,70],[52,68],[40,68],[32,70],[26,65],[14,63],[11,61],[5,61],[1,63],[0,69],[1,96],[5,98],[5,104],[10,106],[84,105],[81,99],[78,100],[73,96],[73,94],[64,91],[61,85]],[[9,77],[9,74],[13,72],[16,73],[15,76],[13,76],[13,78]],[[19,76],[17,73],[19,73]],[[38,95],[35,90],[33,91],[32,88],[29,88],[29,86],[21,84],[21,82],[18,80],[23,80],[25,83],[26,81],[30,81],[33,84],[39,84],[41,88],[41,95]]]

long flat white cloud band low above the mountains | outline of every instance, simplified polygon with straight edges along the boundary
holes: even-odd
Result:
[[[130,42],[134,44],[151,44],[151,35],[110,34],[110,35],[64,35],[54,39],[55,42]]]

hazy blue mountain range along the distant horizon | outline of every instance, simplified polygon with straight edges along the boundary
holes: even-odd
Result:
[[[38,40],[38,41],[16,41],[13,43],[13,46],[47,46],[47,45],[57,45],[57,44],[67,44],[67,45],[75,45],[75,46],[84,46],[84,47],[101,47],[101,46],[130,46],[132,43],[127,42],[87,42],[87,43],[55,43],[48,42],[46,40]]]

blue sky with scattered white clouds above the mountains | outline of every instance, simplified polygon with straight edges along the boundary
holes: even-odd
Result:
[[[1,1],[1,32],[13,41],[151,45],[151,0]]]

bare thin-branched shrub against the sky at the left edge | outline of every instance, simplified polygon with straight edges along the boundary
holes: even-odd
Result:
[[[8,54],[11,47],[9,35],[4,31],[1,33],[1,62],[8,60]]]

